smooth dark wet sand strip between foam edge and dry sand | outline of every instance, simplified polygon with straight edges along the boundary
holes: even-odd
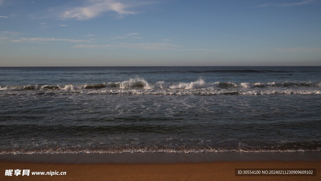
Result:
[[[248,161],[321,162],[321,151],[204,153],[63,153],[0,155],[0,161],[48,164],[180,164]]]

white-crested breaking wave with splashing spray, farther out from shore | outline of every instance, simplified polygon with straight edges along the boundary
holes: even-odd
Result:
[[[213,82],[206,83],[203,79],[194,82],[165,82],[150,83],[143,78],[133,78],[121,82],[92,83],[92,84],[28,84],[4,85],[0,90],[84,90],[84,89],[202,89],[202,88],[264,88],[264,87],[321,87],[321,82]]]

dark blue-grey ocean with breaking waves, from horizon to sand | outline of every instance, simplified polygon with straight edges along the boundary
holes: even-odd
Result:
[[[0,67],[0,154],[321,151],[321,67]]]

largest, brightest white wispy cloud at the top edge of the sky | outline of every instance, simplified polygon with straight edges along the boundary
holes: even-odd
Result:
[[[86,5],[71,7],[64,11],[60,16],[65,19],[75,18],[78,20],[87,20],[95,18],[106,12],[116,12],[117,14],[137,14],[138,12],[130,10],[137,6],[147,4],[134,0],[87,0]]]

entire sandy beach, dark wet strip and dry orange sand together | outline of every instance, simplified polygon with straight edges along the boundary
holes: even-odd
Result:
[[[241,157],[244,157],[244,153],[220,153],[212,154],[212,156],[209,156],[210,154],[208,154],[205,156],[207,156],[209,158],[208,160],[210,160],[211,162],[202,161],[200,163],[186,162],[190,160],[191,157],[198,157],[202,154],[171,155],[170,153],[150,153],[145,154],[146,159],[143,159],[140,163],[133,163],[137,162],[137,160],[140,160],[140,156],[143,156],[144,154],[145,153],[133,154],[131,156],[132,159],[128,159],[128,157],[130,157],[130,153],[127,155],[123,154],[124,159],[117,159],[117,163],[115,163],[115,161],[114,163],[103,163],[106,162],[106,160],[100,159],[101,162],[97,160],[102,157],[110,158],[112,157],[112,154],[87,154],[86,157],[83,157],[83,155],[79,154],[40,154],[29,156],[2,155],[0,157],[0,168],[2,172],[0,180],[320,180],[321,178],[321,161],[317,158],[319,155],[318,152],[308,155],[305,153],[306,157],[297,157],[297,161],[290,160],[294,159],[300,153],[270,154],[274,155],[274,157],[266,157],[268,153],[263,153],[263,155],[262,153],[245,154],[244,159],[248,159],[249,157],[251,157],[251,155],[256,155],[256,157],[252,158],[256,159],[257,161],[239,161],[243,159]],[[116,154],[114,155],[114,157],[117,158],[119,155],[121,154]],[[160,157],[155,157],[157,155],[159,155]],[[182,155],[181,157],[178,156],[178,159],[175,160],[175,162],[177,163],[166,163],[166,161],[161,162],[161,160],[163,160],[164,158],[175,157],[177,155]],[[186,155],[190,158],[187,158]],[[261,157],[260,159],[260,155],[265,157]],[[288,157],[284,157],[284,155],[288,155]],[[48,163],[46,163],[44,159],[48,156],[51,156],[53,158],[51,161],[49,160]],[[230,157],[230,159],[238,161],[221,161],[224,159],[226,160],[226,156]],[[35,159],[37,157],[39,159]],[[64,159],[67,157],[69,157],[69,159]],[[150,158],[152,157],[154,157],[155,159],[150,160]],[[185,157],[185,159],[183,157]],[[30,159],[34,159],[34,161],[31,161]],[[53,162],[53,160],[56,160],[56,162]],[[89,162],[83,163],[84,160],[87,160]],[[94,163],[95,160],[97,163]],[[154,161],[155,163],[151,163],[151,161]],[[316,176],[235,176],[236,168],[313,168],[316,169],[317,173]],[[6,169],[30,169],[30,175],[5,176],[4,172]],[[31,172],[49,171],[66,172],[66,175],[31,175]]]

